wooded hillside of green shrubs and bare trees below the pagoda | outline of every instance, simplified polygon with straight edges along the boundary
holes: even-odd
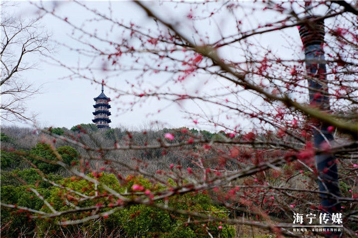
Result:
[[[168,133],[173,135],[173,140],[167,138]],[[220,189],[221,191],[215,187],[212,191],[193,190],[170,198],[163,196],[163,199],[155,201],[158,205],[166,204],[173,209],[184,210],[185,213],[177,213],[176,210],[163,211],[160,206],[151,207],[135,202],[136,197],[162,196],[167,190],[177,189],[178,185],[189,185],[201,169],[200,166],[192,166],[195,154],[205,154],[203,165],[207,167],[205,174],[208,177],[210,173],[214,173],[213,177],[220,176],[224,169],[250,168],[250,165],[260,163],[258,157],[273,159],[285,154],[284,151],[270,152],[263,148],[253,157],[251,154],[254,148],[250,143],[252,136],[248,133],[239,138],[224,131],[211,133],[184,127],[133,132],[124,128],[98,129],[94,124],[76,125],[71,129],[44,128],[37,131],[4,127],[1,132],[1,202],[14,204],[19,210],[1,210],[1,234],[6,237],[47,237],[51,234],[54,237],[163,238],[194,238],[210,234],[224,238],[269,238],[271,233],[264,229],[253,229],[249,224],[227,224],[227,219],[245,217],[259,222],[262,218],[258,212],[250,209],[255,205],[260,206],[270,219],[279,221],[289,215],[288,211],[280,209],[277,204],[287,206],[289,210],[302,206],[297,198],[309,200],[311,204],[319,203],[315,194],[310,194],[310,197],[302,196],[302,192],[310,192],[308,188],[315,183],[315,177],[297,161],[287,159],[287,163],[279,165],[282,171],[280,173],[266,171],[243,176],[242,179]],[[56,139],[53,139],[54,137]],[[255,135],[256,140],[265,140],[265,137],[265,134]],[[71,138],[80,144],[64,138]],[[168,147],[162,144],[165,140],[170,142]],[[239,150],[231,145],[232,140],[249,143],[245,150]],[[209,152],[211,148],[208,144],[213,141],[221,142],[222,145]],[[198,147],[198,142],[203,146]],[[279,144],[280,140],[275,143]],[[87,145],[88,148],[100,146],[96,150],[87,151],[82,145]],[[148,148],[138,150],[136,147],[140,145]],[[148,145],[153,146],[150,148]],[[102,150],[113,146],[126,149]],[[230,158],[223,158],[223,155],[229,155]],[[58,156],[64,162],[63,165],[51,163],[57,161]],[[303,159],[310,157],[302,153],[300,156],[307,157]],[[81,178],[81,175],[74,176],[66,169],[67,166],[86,171],[90,179],[98,179],[110,191],[130,198],[133,204],[129,203],[123,209],[108,213],[111,207],[121,206],[124,201],[108,196],[107,189]],[[212,169],[209,169],[210,167]],[[173,176],[174,174],[178,177]],[[342,207],[352,209],[356,206],[351,203],[357,199],[357,191],[352,190],[356,186],[355,182],[355,179],[349,176],[340,181],[342,196],[347,197],[342,199]],[[283,194],[275,191],[279,191],[283,186],[289,187],[290,195],[284,199],[281,196],[287,195],[286,191],[283,190]],[[264,191],[263,187],[269,190]],[[240,202],[233,203],[237,200],[236,193],[248,188],[250,190],[243,191],[240,196]],[[252,192],[253,188],[255,192]],[[260,197],[262,198],[258,199]],[[349,197],[352,197],[352,200]],[[232,204],[228,208],[227,203],[230,200]],[[49,206],[46,206],[47,204]],[[32,209],[48,212],[50,207],[58,213],[55,217],[29,219]],[[94,207],[95,211],[91,212],[90,209]],[[67,212],[73,209],[73,213]],[[199,217],[209,215],[215,219],[203,225],[198,221],[191,221],[192,213]],[[82,222],[72,225],[70,221],[74,219]],[[59,222],[67,225],[56,226]],[[352,230],[358,229],[355,222],[346,225]]]

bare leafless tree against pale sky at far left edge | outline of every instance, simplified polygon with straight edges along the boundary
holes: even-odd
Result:
[[[4,8],[6,6],[2,6]],[[2,9],[4,12],[4,9]],[[36,67],[34,57],[49,52],[49,35],[41,31],[39,19],[23,20],[2,14],[0,48],[1,119],[6,121],[32,120],[25,101],[39,93],[26,79],[23,71]]]

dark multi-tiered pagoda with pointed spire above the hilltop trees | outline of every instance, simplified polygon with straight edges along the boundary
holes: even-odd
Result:
[[[93,98],[95,104],[93,105],[94,112],[92,113],[94,115],[94,119],[92,122],[95,123],[98,128],[109,128],[108,124],[111,120],[109,119],[110,105],[108,102],[110,101],[110,98],[103,93],[103,83],[104,81],[102,80],[102,92],[97,97]]]

